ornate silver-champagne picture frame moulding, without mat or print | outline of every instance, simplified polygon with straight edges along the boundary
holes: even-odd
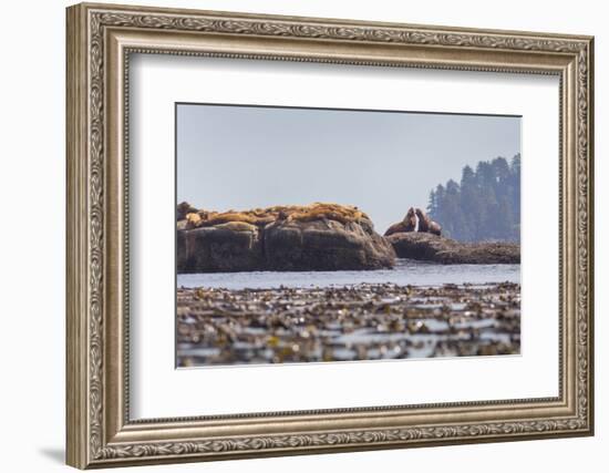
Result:
[[[87,469],[593,433],[592,38],[89,3],[70,7],[66,24],[68,464]],[[553,236],[560,269],[558,395],[132,419],[133,54],[558,78],[559,235]]]

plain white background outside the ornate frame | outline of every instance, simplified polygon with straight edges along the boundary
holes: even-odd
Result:
[[[135,3],[123,0],[125,3]],[[596,35],[597,435],[485,445],[292,456],[144,471],[601,472],[607,466],[609,273],[606,204],[609,32],[603,2],[579,1],[153,1],[148,4]],[[0,464],[3,471],[66,470],[64,445],[64,7],[2,6],[0,72]],[[605,21],[603,21],[605,20]],[[605,214],[605,215],[603,215]],[[603,241],[605,240],[605,241]],[[605,294],[603,294],[605,292]]]

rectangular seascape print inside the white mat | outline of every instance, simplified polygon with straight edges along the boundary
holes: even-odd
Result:
[[[520,116],[177,103],[176,366],[520,352]]]

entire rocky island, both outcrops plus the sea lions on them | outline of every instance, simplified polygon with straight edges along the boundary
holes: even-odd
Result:
[[[242,212],[177,206],[177,271],[333,271],[393,268],[395,258],[443,265],[519,264],[508,241],[457,241],[420,208],[374,230],[358,207],[316,203]]]

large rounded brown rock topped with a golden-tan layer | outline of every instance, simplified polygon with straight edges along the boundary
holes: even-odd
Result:
[[[391,268],[395,263],[391,244],[357,207],[195,209],[183,216],[177,223],[178,273],[360,270]]]

